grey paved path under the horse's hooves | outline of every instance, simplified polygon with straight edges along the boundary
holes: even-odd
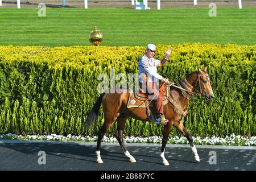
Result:
[[[166,159],[170,166],[163,166],[160,146],[160,144],[127,144],[131,155],[137,159],[136,163],[130,163],[118,144],[102,143],[101,157],[104,163],[97,164],[94,142],[0,140],[0,170],[256,170],[256,147],[196,146],[201,159],[200,163],[197,163],[193,160],[189,145],[168,144]]]

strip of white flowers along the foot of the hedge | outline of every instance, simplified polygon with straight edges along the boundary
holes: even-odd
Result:
[[[58,141],[82,141],[82,142],[97,142],[98,137],[81,137],[75,135],[15,135],[15,134],[1,134],[0,139],[18,139],[18,140],[58,140]],[[125,143],[162,143],[162,137],[123,137]],[[115,137],[104,137],[102,142],[117,143]],[[232,134],[225,138],[220,137],[193,137],[195,144],[201,145],[226,145],[226,146],[256,146],[256,137],[243,137],[241,135]],[[188,144],[185,137],[169,137],[168,143],[170,144]]]

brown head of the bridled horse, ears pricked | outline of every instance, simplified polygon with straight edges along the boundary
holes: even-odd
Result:
[[[185,81],[191,84],[192,92],[199,94],[199,96],[205,96],[207,100],[213,99],[214,94],[207,74],[207,67],[204,70],[199,68],[198,71],[191,73],[185,78]]]

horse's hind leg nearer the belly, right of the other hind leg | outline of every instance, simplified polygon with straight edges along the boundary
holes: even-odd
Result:
[[[117,134],[115,135],[115,137],[117,138],[118,143],[120,144],[125,155],[130,159],[130,162],[135,163],[136,160],[127,150],[125,143],[123,143],[123,130],[125,129],[126,119],[127,119],[127,117],[126,117],[125,113],[121,114],[117,118]]]

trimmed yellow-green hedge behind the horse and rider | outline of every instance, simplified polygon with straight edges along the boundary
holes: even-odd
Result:
[[[159,73],[176,82],[208,65],[214,99],[195,96],[184,119],[193,136],[256,134],[256,46],[176,44]],[[158,45],[161,59],[167,45]],[[0,46],[0,133],[97,135],[104,121],[84,131],[100,73],[138,72],[144,47]],[[119,82],[119,81],[117,81]],[[115,133],[116,123],[107,135]],[[162,126],[129,118],[125,135],[162,135]],[[177,135],[172,129],[170,135]]]

